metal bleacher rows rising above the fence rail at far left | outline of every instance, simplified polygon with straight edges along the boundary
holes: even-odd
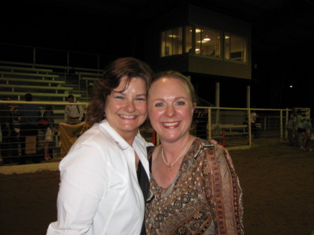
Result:
[[[67,84],[64,73],[54,72],[53,68],[55,66],[0,61],[0,96],[21,100],[25,93],[31,93],[36,101],[66,101],[71,93],[81,98],[80,89]]]

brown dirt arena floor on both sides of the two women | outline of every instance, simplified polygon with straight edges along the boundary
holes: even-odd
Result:
[[[230,153],[244,192],[245,234],[311,235],[314,153],[276,139]],[[57,171],[0,174],[0,234],[45,234],[56,220],[58,186]]]

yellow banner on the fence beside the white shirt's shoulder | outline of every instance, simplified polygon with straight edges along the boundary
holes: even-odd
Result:
[[[59,123],[61,158],[66,156],[76,139],[89,128],[90,126],[87,123],[80,123],[77,125]]]

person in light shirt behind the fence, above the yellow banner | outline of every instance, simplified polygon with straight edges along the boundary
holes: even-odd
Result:
[[[68,95],[68,102],[75,103],[73,95]],[[64,121],[70,125],[79,124],[82,121],[83,114],[82,105],[66,105],[64,109]]]

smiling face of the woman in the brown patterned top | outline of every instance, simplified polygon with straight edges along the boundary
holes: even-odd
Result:
[[[188,86],[180,79],[163,77],[149,89],[149,119],[161,140],[175,142],[189,135],[194,107]]]

